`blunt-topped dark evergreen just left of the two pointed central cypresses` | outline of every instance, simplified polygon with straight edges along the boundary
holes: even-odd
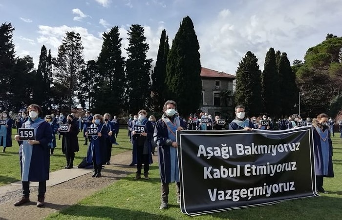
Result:
[[[140,109],[147,109],[150,102],[150,68],[151,59],[146,54],[149,44],[144,36],[144,28],[139,24],[132,24],[128,31],[128,59],[126,60],[127,96],[129,111],[138,113]]]

